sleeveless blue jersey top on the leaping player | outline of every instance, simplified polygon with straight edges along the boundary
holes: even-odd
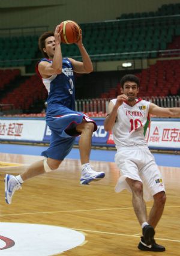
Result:
[[[41,61],[52,63],[51,59],[43,58]],[[36,67],[37,74],[38,64]],[[71,61],[68,58],[62,59],[62,73],[59,75],[52,75],[50,78],[41,78],[43,84],[48,91],[47,97],[47,111],[55,109],[58,106],[65,106],[71,110],[75,109],[75,95],[74,95],[74,72]],[[51,112],[51,111],[50,111]]]

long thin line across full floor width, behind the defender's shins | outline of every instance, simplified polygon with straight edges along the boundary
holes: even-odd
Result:
[[[166,208],[177,208],[180,206],[165,206],[164,209]],[[151,206],[148,206],[146,208],[152,208]],[[17,216],[17,215],[35,215],[35,214],[53,214],[53,213],[73,213],[73,212],[95,212],[95,211],[110,211],[110,210],[133,210],[133,207],[121,207],[121,208],[104,208],[104,209],[88,209],[88,210],[65,210],[65,211],[55,211],[55,212],[32,212],[32,213],[10,213],[10,214],[0,214],[1,216]]]

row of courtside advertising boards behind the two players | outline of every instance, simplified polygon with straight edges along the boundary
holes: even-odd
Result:
[[[112,132],[104,130],[104,118],[94,118],[98,129],[92,135],[92,145],[115,147]],[[180,120],[152,118],[146,132],[149,148],[180,150]],[[0,140],[43,142],[50,141],[51,131],[44,119],[0,118]],[[76,137],[78,144],[80,137]]]

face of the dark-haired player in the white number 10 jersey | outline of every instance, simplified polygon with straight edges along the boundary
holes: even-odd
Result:
[[[133,102],[139,93],[139,88],[135,82],[127,81],[124,83],[124,87],[121,88],[121,93],[128,96],[128,102]]]

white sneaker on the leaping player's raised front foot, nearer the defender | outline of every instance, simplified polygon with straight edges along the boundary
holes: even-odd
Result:
[[[91,168],[91,165],[86,165],[82,169],[82,174],[80,177],[80,184],[87,185],[91,181],[98,181],[101,178],[104,178],[105,173],[103,171],[94,171]]]

